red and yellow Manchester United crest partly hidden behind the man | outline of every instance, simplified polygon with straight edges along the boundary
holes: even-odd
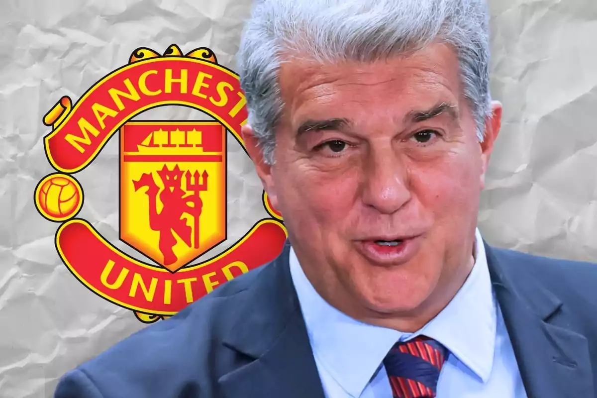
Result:
[[[155,322],[241,273],[273,260],[286,230],[266,193],[268,218],[207,261],[196,259],[227,239],[227,140],[247,121],[238,76],[198,48],[164,55],[147,48],[105,76],[76,104],[62,97],[44,116],[44,138],[57,172],[35,189],[39,213],[60,223],[56,249],[72,274],[91,291]],[[201,110],[212,121],[131,121],[158,106]],[[84,190],[75,174],[114,135],[119,140],[119,237],[152,260],[144,263],[101,236],[77,215]]]

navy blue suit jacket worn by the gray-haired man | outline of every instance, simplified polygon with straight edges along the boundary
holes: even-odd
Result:
[[[485,246],[528,397],[596,397],[597,265]],[[54,397],[324,398],[288,248],[67,373]]]

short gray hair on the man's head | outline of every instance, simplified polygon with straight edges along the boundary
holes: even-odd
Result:
[[[488,36],[485,0],[258,0],[242,35],[238,72],[264,160],[274,161],[284,53],[319,62],[373,62],[433,41],[448,43],[482,141],[491,115]]]

